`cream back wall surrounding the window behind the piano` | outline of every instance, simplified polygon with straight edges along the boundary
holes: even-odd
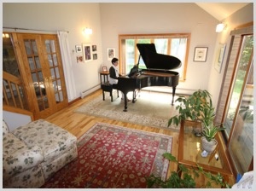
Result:
[[[191,33],[187,79],[177,89],[207,89],[218,20],[195,3],[100,3],[103,55],[119,56],[119,34]],[[193,61],[195,47],[208,47],[207,61]],[[106,56],[103,62],[111,66]],[[178,91],[178,90],[177,90]]]

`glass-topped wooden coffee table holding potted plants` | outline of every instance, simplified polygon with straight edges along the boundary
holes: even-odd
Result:
[[[216,137],[218,141],[216,150],[212,154],[208,154],[207,157],[202,157],[201,137],[195,136],[192,130],[193,127],[189,123],[181,123],[178,137],[178,164],[190,168],[196,168],[199,165],[204,171],[209,171],[212,174],[219,172],[224,177],[224,182],[233,182],[234,177],[230,163],[224,152],[224,145],[220,141],[219,135]]]

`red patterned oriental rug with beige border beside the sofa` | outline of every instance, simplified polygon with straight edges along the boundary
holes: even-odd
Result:
[[[147,188],[151,173],[166,178],[172,136],[97,123],[79,139],[79,156],[42,188]]]

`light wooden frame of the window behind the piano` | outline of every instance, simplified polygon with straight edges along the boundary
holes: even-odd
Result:
[[[186,38],[187,39],[187,46],[186,46],[186,53],[184,57],[183,64],[183,74],[180,75],[179,81],[183,82],[186,80],[186,73],[188,67],[188,60],[189,60],[189,43],[190,43],[191,33],[159,33],[159,34],[119,34],[119,71],[121,73],[127,73],[125,67],[125,40],[126,39],[135,39],[134,49],[136,50],[136,44],[139,39],[150,39],[150,43],[154,43],[154,39],[157,38],[167,38],[167,55],[171,53],[171,45],[172,45],[172,38]],[[138,61],[139,54],[138,51],[134,52],[134,61]]]

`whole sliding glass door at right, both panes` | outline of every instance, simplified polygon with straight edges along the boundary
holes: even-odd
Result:
[[[243,174],[253,159],[253,35],[242,37],[234,77],[224,126],[230,157]]]

